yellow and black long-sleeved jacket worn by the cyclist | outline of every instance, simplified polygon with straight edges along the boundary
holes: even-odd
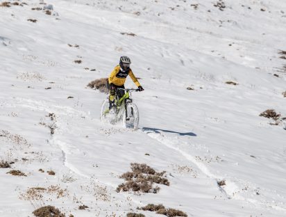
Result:
[[[111,72],[110,77],[108,78],[109,83],[114,83],[116,86],[122,86],[125,83],[126,77],[130,76],[132,81],[136,84],[137,87],[140,86],[140,83],[137,81],[131,69],[126,72],[121,72],[120,65],[115,66],[115,69]]]

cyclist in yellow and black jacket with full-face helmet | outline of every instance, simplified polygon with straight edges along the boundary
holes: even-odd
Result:
[[[135,85],[138,87],[139,91],[144,90],[140,85],[139,81],[134,76],[131,68],[131,60],[127,56],[121,56],[119,65],[115,66],[115,69],[111,72],[108,78],[108,83],[110,85],[110,95],[109,95],[109,109],[115,106],[115,93],[117,88],[124,88],[124,83],[126,77],[129,75]],[[124,90],[119,90],[118,95],[121,98],[124,95]]]

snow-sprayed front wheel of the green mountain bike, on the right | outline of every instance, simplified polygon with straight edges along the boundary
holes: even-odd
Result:
[[[123,127],[137,129],[139,124],[139,111],[137,106],[133,102],[128,102],[126,104],[126,110],[127,112],[124,112],[122,119]]]

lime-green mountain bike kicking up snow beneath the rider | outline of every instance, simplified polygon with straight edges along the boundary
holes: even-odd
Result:
[[[119,99],[118,90],[125,90],[126,93]],[[115,106],[109,109],[109,99],[105,99],[101,104],[101,122],[116,124],[122,121],[125,128],[137,129],[139,123],[139,111],[131,99],[131,93],[139,89],[117,88],[115,93]]]

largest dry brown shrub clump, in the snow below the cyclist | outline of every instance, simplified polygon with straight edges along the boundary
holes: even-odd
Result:
[[[131,170],[133,172],[125,172],[119,178],[125,179],[125,183],[117,187],[117,192],[122,191],[141,191],[143,193],[157,193],[160,188],[153,187],[153,183],[164,184],[169,186],[169,181],[162,175],[163,172],[155,172],[153,168],[147,166],[145,163],[131,163]]]

